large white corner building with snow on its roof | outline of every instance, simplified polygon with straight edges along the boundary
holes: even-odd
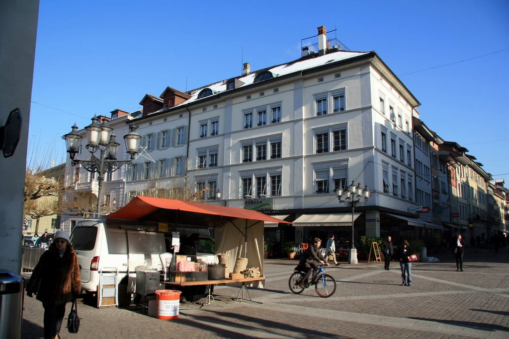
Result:
[[[356,208],[355,239],[425,226],[408,212],[419,102],[375,52],[333,48],[257,72],[245,65],[242,76],[187,95],[173,107],[150,96],[132,120],[146,157],[127,173],[127,200],[205,192],[210,203],[295,221],[274,228],[275,242],[335,233],[348,246],[352,213],[335,189],[354,181],[372,191]]]

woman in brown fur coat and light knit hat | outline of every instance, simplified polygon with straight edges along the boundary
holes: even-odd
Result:
[[[54,241],[34,268],[26,295],[37,294],[44,307],[44,338],[60,338],[66,303],[81,289],[79,264],[69,234],[55,233]]]

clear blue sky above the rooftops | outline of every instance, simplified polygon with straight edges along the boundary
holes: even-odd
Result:
[[[509,187],[508,18],[506,0],[41,0],[29,143],[54,149],[59,163],[74,123],[135,111],[166,86],[240,75],[243,62],[258,70],[297,59],[301,39],[324,25],[349,49],[376,51],[420,101],[425,124]]]

